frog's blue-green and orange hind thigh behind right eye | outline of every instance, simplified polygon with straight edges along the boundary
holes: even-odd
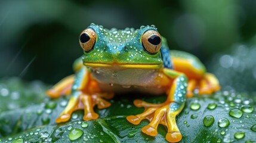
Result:
[[[174,70],[186,74],[189,79],[201,79],[205,74],[205,66],[192,54],[183,51],[170,50]]]

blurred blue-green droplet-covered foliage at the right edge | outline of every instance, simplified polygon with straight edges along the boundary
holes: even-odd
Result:
[[[208,65],[226,91],[256,92],[256,42],[234,44],[230,52],[216,54]]]

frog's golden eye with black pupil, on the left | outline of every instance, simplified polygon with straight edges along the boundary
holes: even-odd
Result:
[[[79,38],[79,43],[85,52],[90,52],[96,41],[96,33],[92,29],[85,29]]]

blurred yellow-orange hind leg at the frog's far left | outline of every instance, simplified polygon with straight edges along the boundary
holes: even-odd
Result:
[[[57,98],[61,95],[69,95],[74,82],[75,76],[70,75],[60,80],[53,88],[49,89],[46,94],[51,98]]]

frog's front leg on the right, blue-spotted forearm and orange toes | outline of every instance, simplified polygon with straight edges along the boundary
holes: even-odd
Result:
[[[158,135],[159,123],[168,128],[166,140],[178,142],[182,135],[177,127],[175,117],[181,112],[186,101],[187,77],[178,71],[164,69],[164,73],[174,79],[167,91],[168,97],[162,104],[150,104],[141,100],[135,100],[137,107],[144,107],[143,113],[136,116],[128,116],[127,120],[134,125],[138,125],[141,120],[148,119],[149,125],[141,129],[142,132],[150,136]]]

